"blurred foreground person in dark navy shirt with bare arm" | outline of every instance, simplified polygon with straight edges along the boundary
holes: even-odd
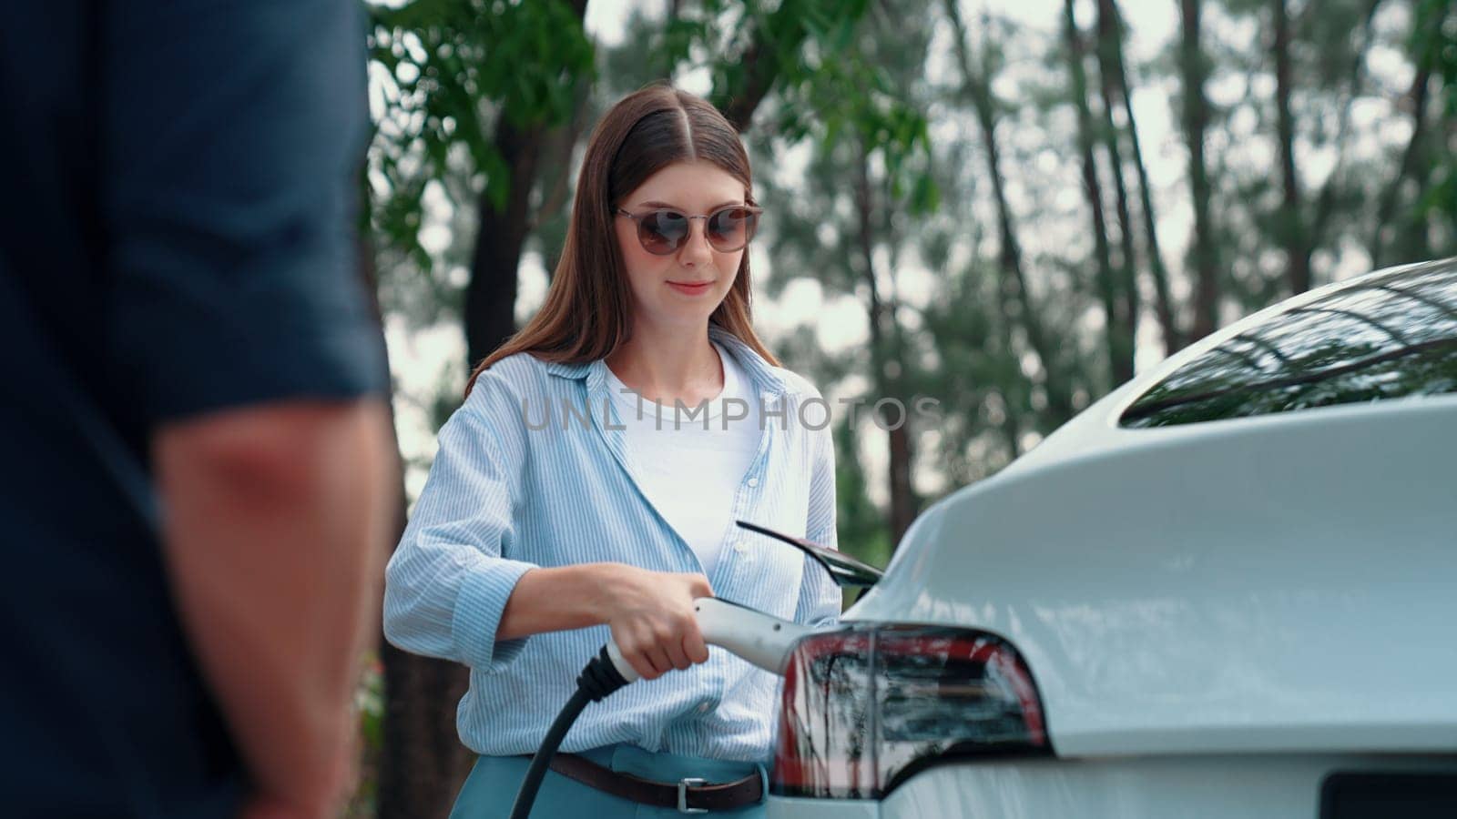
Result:
[[[358,3],[0,44],[0,813],[332,816],[398,474]]]

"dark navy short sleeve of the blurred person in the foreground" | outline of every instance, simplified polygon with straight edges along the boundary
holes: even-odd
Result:
[[[102,9],[99,372],[149,426],[388,392],[357,252],[360,4]]]

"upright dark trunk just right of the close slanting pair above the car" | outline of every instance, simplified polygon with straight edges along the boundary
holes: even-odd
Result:
[[[1203,133],[1209,125],[1209,101],[1203,92],[1205,57],[1199,45],[1199,0],[1180,0],[1183,19],[1179,50],[1183,76],[1183,130],[1189,144],[1189,191],[1193,198],[1193,334],[1214,332],[1220,324],[1220,275],[1214,219],[1209,216],[1209,172],[1203,159]]]

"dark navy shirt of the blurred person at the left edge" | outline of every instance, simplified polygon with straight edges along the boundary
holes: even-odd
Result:
[[[357,0],[51,0],[0,26],[0,813],[236,815],[149,440],[385,391],[366,133]]]

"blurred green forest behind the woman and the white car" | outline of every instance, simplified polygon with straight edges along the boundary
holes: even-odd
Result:
[[[364,273],[407,501],[471,364],[542,302],[593,122],[656,80],[749,147],[755,325],[835,408],[839,545],[876,564],[1212,329],[1457,254],[1451,0],[364,7]],[[896,415],[916,396],[934,423]],[[380,643],[348,816],[449,813],[465,685]]]

